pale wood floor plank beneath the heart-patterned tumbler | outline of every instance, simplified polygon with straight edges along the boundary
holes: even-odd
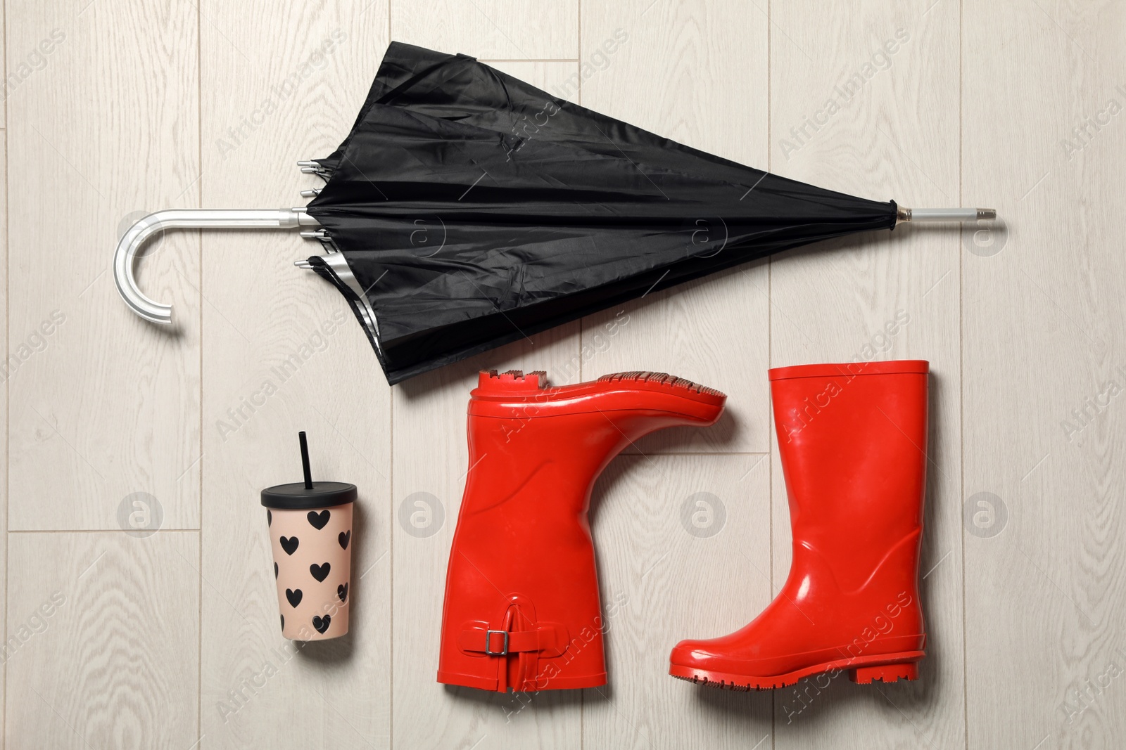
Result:
[[[386,3],[200,4],[203,204],[295,206],[295,162],[345,136],[386,47]],[[379,19],[383,19],[382,21]],[[294,233],[205,234],[203,663],[208,748],[387,747],[391,390],[343,298],[293,261]],[[292,359],[295,358],[295,359]],[[263,487],[359,489],[351,627],[282,638]]]

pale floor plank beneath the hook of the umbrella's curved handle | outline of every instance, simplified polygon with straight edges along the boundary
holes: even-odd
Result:
[[[166,528],[196,527],[198,242],[171,234],[141,263],[141,286],[176,306],[172,329],[133,315],[109,272],[128,219],[195,205],[196,15],[189,0],[87,4],[7,8],[17,58],[57,40],[7,102],[9,347],[24,347],[8,380],[10,523],[117,528],[122,499],[145,491]]]

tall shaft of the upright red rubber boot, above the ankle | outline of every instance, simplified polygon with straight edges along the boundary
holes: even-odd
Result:
[[[921,531],[928,371],[921,360],[770,370],[795,553],[854,560],[844,588]]]

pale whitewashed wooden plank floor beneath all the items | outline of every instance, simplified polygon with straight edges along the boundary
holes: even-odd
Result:
[[[1126,742],[1126,3],[5,6],[7,748]],[[394,388],[339,295],[293,268],[293,235],[168,234],[141,284],[176,327],[133,316],[109,272],[124,228],[300,205],[316,180],[295,162],[334,148],[390,39],[780,175],[992,206],[1004,226],[787,253]],[[786,577],[767,368],[896,358],[932,369],[921,679],[669,678],[678,639],[741,626]],[[642,442],[596,488],[606,688],[435,681],[483,367],[663,370],[731,397],[720,425]],[[318,477],[360,488],[352,632],[304,648],[278,632],[258,504],[296,477],[298,430]],[[723,517],[706,536],[680,521],[701,497]]]

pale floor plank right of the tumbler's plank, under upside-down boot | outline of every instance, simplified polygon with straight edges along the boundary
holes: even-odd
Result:
[[[574,63],[486,61],[547,91]],[[579,323],[531,336],[409,380],[394,389],[394,744],[396,748],[571,748],[580,741],[580,697],[544,693],[525,707],[518,697],[437,683],[441,607],[449,544],[457,523],[468,454],[465,408],[482,369],[546,370],[552,383],[579,381]],[[425,493],[441,508],[441,525],[401,524],[400,508]],[[432,515],[431,518],[436,518]],[[437,524],[437,521],[431,523]]]

